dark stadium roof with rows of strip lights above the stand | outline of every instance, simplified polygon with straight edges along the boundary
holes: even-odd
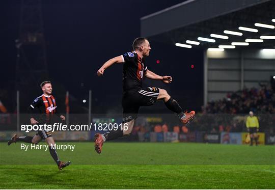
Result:
[[[255,23],[271,25],[271,29]],[[248,32],[239,27],[256,30]],[[260,38],[275,36],[274,28],[275,0],[188,0],[141,18],[141,36],[170,44],[197,41],[200,45],[189,45],[203,48],[231,45],[246,39],[263,42],[249,42],[249,46],[238,48],[274,48],[275,39]],[[242,36],[225,34],[225,30],[242,33]],[[211,34],[228,36],[228,39],[211,37]],[[200,41],[198,37],[215,42]]]

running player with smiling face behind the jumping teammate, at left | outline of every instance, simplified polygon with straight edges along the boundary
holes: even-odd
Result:
[[[61,120],[64,121],[65,116],[57,113],[57,102],[56,102],[56,99],[51,94],[52,86],[50,81],[45,81],[41,83],[40,87],[43,91],[43,94],[37,97],[28,108],[29,113],[31,114],[31,119],[30,119],[31,124],[33,125],[44,124],[44,123],[50,124],[53,114],[59,115]],[[40,117],[36,119],[34,118],[35,108],[38,108],[40,112]],[[58,169],[62,170],[66,166],[69,166],[71,162],[60,161],[56,149],[52,147],[54,146],[55,142],[52,138],[51,131],[44,130],[43,127],[41,129],[42,130],[38,130],[38,132],[36,133],[36,135],[34,135],[34,137],[30,137],[30,136],[18,137],[17,134],[14,134],[11,140],[9,140],[8,145],[16,142],[37,144],[43,139],[48,144],[50,155],[54,159],[54,161],[56,161]]]

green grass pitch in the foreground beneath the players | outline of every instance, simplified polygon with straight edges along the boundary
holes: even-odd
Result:
[[[105,143],[97,154],[92,142],[67,143],[63,171],[48,150],[0,143],[0,188],[275,188],[275,146]]]

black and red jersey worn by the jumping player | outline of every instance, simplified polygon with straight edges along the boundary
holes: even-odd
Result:
[[[123,90],[138,91],[142,88],[143,74],[147,67],[135,51],[127,52],[122,55],[123,58]]]

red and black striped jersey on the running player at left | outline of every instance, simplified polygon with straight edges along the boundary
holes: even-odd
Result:
[[[39,118],[34,117],[35,109],[39,111]],[[58,114],[56,99],[52,95],[42,94],[31,103],[29,113],[31,118],[34,117],[39,123],[50,123],[53,114]]]

